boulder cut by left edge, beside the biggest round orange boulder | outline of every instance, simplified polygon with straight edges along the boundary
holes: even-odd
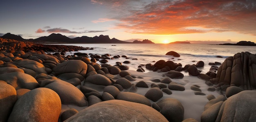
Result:
[[[14,87],[6,82],[0,82],[0,122],[7,122],[12,108],[17,100]]]

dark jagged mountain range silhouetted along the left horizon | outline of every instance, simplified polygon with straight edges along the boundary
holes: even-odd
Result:
[[[71,39],[71,38],[66,37],[65,35],[61,35],[59,33],[58,34],[52,33],[49,36],[39,37],[36,39],[23,39],[19,35],[7,33],[7,34],[3,35],[1,38],[15,39],[18,41],[32,41],[32,42],[41,43],[41,44],[54,44],[54,43],[58,43],[58,44],[61,44],[61,43],[62,44],[65,44],[65,43],[72,43],[72,44],[79,44],[79,43],[80,44],[83,44],[83,43],[154,44],[154,42],[152,42],[148,39],[144,39],[143,41],[135,40],[133,42],[128,42],[128,41],[121,41],[116,38],[110,39],[108,35],[99,35],[99,37],[98,36],[95,36],[95,37],[82,36],[82,37],[76,37],[74,39]]]

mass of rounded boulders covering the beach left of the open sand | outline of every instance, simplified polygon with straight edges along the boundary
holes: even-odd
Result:
[[[123,71],[128,70],[128,66],[96,63],[97,60],[112,59],[108,54],[91,54],[89,59],[85,53],[64,56],[62,53],[52,55],[35,50],[11,52],[0,52],[0,121],[91,121],[96,119],[95,115],[100,120],[109,121],[183,120],[184,108],[178,100],[158,101],[163,92],[171,94],[170,89],[184,90],[182,85],[171,82],[170,78],[151,84],[142,96],[134,92],[137,87],[148,87],[148,84],[143,81],[131,84],[136,77]],[[116,74],[121,78],[115,79]],[[151,104],[150,100],[156,103]],[[87,108],[80,112],[68,109],[61,113],[61,105]],[[175,111],[171,112],[173,109]]]

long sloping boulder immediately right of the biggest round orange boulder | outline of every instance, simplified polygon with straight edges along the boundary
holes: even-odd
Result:
[[[84,107],[88,105],[87,99],[84,94],[74,85],[59,79],[44,81],[54,81],[45,85],[45,87],[54,90],[60,96],[62,104],[72,104],[79,107]]]

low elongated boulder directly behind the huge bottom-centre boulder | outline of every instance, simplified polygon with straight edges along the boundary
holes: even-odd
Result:
[[[117,95],[117,99],[118,100],[126,100],[126,101],[130,101],[130,102],[137,102],[137,103],[151,106],[150,101],[145,96],[137,94],[137,93],[120,92]]]

